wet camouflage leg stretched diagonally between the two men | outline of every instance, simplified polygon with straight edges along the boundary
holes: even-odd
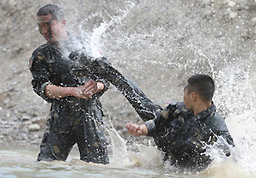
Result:
[[[73,74],[78,77],[93,74],[111,82],[125,96],[143,121],[160,116],[162,108],[153,104],[135,83],[120,74],[116,68],[113,68],[105,57],[95,59],[83,53],[77,54],[77,52],[74,52],[70,54],[70,59],[73,62],[70,65]]]

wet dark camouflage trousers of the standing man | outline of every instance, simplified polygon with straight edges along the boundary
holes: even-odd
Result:
[[[81,104],[52,104],[38,161],[65,161],[75,144],[81,160],[109,163],[102,111],[97,104],[89,107],[81,107]]]

